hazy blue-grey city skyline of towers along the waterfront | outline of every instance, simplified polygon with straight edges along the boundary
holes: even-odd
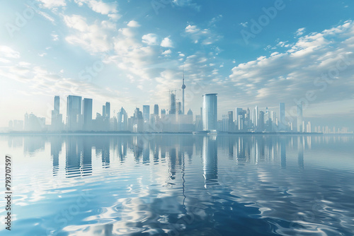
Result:
[[[67,96],[67,117],[63,122],[60,113],[60,98],[55,96],[54,109],[52,110],[51,124],[45,124],[44,117],[36,117],[35,114],[25,114],[25,120],[13,120],[9,122],[12,131],[127,131],[141,132],[192,132],[192,131],[218,131],[218,132],[300,132],[300,133],[331,133],[328,127],[315,126],[312,129],[311,122],[305,122],[302,117],[302,105],[297,105],[296,118],[287,114],[285,117],[285,103],[280,102],[279,113],[268,110],[268,107],[259,110],[246,110],[236,107],[235,110],[222,115],[217,119],[217,93],[202,95],[202,107],[200,114],[193,114],[188,110],[185,114],[184,100],[184,76],[182,102],[176,99],[176,90],[169,92],[169,109],[159,109],[155,104],[150,110],[150,105],[143,105],[142,110],[135,108],[134,114],[128,116],[122,107],[117,113],[111,115],[110,102],[105,102],[102,113],[96,113],[93,119],[93,100],[81,96]],[[348,132],[348,129],[336,129],[333,133]]]

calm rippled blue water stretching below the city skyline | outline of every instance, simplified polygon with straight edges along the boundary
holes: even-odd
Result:
[[[0,235],[354,235],[354,137],[0,136],[0,149],[13,158]],[[3,174],[0,190],[3,220]]]

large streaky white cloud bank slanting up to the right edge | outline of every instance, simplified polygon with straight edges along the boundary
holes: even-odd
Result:
[[[354,83],[349,81],[353,81],[354,73],[353,21],[299,37],[288,48],[234,66],[229,87],[237,89],[239,102],[267,105],[265,101],[285,101],[291,105],[294,99],[305,98],[307,91],[314,91],[313,103],[352,98]],[[344,69],[338,70],[338,66]]]

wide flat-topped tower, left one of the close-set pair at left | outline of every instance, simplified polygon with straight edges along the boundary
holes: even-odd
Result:
[[[79,96],[67,97],[67,129],[69,131],[81,129],[81,97]]]

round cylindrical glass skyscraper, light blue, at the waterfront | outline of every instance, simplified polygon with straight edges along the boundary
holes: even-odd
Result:
[[[202,95],[202,128],[205,131],[217,129],[217,93]]]

